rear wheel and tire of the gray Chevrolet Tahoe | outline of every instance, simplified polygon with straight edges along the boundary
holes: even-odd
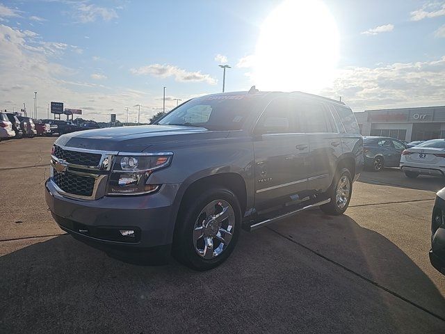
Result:
[[[350,197],[353,193],[353,177],[350,175],[348,168],[341,168],[335,177],[327,196],[331,201],[325,205],[321,205],[321,211],[326,214],[338,216],[348,209]]]

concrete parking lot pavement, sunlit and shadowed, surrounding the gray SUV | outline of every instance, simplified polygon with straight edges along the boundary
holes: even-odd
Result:
[[[211,271],[143,267],[54,223],[54,140],[0,143],[0,333],[445,333],[445,276],[428,260],[445,180],[364,172],[343,216],[243,232]]]

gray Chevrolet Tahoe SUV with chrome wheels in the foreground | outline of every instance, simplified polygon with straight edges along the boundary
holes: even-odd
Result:
[[[60,228],[113,257],[172,253],[206,270],[241,229],[311,207],[343,214],[362,168],[348,106],[250,90],[197,97],[154,125],[60,136],[45,196]]]

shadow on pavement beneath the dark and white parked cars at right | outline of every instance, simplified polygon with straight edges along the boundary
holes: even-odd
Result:
[[[403,186],[410,189],[436,192],[444,188],[445,177],[419,175],[415,179],[410,179],[398,168],[385,168],[381,172],[362,172],[359,177],[359,182],[385,184],[387,186]]]

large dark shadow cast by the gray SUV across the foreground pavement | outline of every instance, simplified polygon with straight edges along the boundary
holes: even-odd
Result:
[[[0,332],[443,333],[444,321],[312,251],[444,310],[435,286],[400,249],[347,216],[319,218],[309,213],[243,233],[229,260],[207,272],[175,261],[126,264],[68,235],[27,246],[0,257]]]

